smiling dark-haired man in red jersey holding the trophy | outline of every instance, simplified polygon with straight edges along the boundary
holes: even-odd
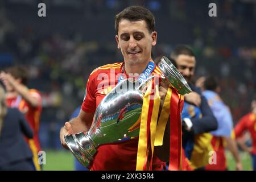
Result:
[[[84,102],[82,103],[78,117],[66,122],[65,126],[60,130],[60,140],[64,147],[67,147],[64,139],[65,135],[88,131],[90,129],[97,106],[106,94],[117,85],[121,76],[131,77],[130,75],[141,75],[146,70],[150,70],[155,75],[161,74],[160,69],[151,59],[151,49],[156,44],[157,33],[155,31],[154,15],[149,10],[141,6],[127,7],[115,16],[115,31],[117,34],[115,35],[117,47],[121,49],[124,61],[104,65],[95,69],[90,74],[86,85]],[[148,65],[152,65],[152,67],[148,67]],[[97,79],[98,75],[106,74],[111,78],[111,72],[114,73],[115,80],[111,81],[109,79],[107,81],[110,85],[109,88],[102,91],[97,89],[97,86],[102,81],[101,79]],[[161,101],[165,98],[167,89],[168,85],[166,87],[161,82],[159,85]],[[167,136],[167,139],[164,139],[163,146],[155,147],[152,170],[162,170],[165,165],[164,162],[168,160],[170,152],[170,133],[168,132],[170,131],[166,129],[164,136]],[[98,148],[90,169],[135,170],[137,165],[137,151],[138,138],[118,144],[104,144]]]

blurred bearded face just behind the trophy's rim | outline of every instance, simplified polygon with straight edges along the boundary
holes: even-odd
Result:
[[[194,56],[179,55],[176,58],[177,69],[187,82],[191,82],[195,73],[196,59]]]

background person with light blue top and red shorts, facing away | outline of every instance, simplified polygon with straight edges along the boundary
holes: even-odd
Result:
[[[225,147],[228,147],[236,160],[236,169],[242,170],[241,158],[238,153],[236,140],[233,133],[233,119],[228,106],[224,104],[220,96],[220,86],[218,86],[216,79],[213,76],[200,77],[196,85],[203,90],[203,95],[207,98],[210,109],[212,109],[214,116],[218,122],[218,129],[211,131],[213,135],[211,144],[214,155],[216,154],[215,162],[212,161],[205,167],[205,170],[225,171],[228,169],[225,156]]]

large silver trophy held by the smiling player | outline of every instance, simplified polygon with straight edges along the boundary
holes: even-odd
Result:
[[[162,78],[167,79],[177,92],[182,95],[191,92],[183,76],[167,57],[162,57],[158,67],[163,73]],[[119,82],[98,105],[89,131],[65,136],[69,150],[83,166],[90,166],[101,144],[122,142],[139,136],[142,90],[153,77],[141,83],[133,79]]]

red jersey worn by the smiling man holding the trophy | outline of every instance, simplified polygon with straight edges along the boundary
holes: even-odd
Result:
[[[86,85],[86,94],[81,109],[87,113],[94,113],[101,100],[118,83],[118,78],[122,74],[123,63],[114,63],[104,65],[95,69],[89,76]],[[155,67],[154,74],[160,75],[160,69]],[[125,74],[126,77],[128,77]],[[104,89],[102,85],[102,76],[108,76],[110,79],[104,79]],[[100,78],[101,77],[101,78]],[[114,80],[113,80],[114,78]],[[113,131],[114,132],[114,131]],[[118,144],[105,144],[98,147],[98,152],[93,160],[92,170],[135,170],[137,163],[138,138],[127,140]],[[162,170],[164,163],[156,156],[153,159],[153,170]]]

